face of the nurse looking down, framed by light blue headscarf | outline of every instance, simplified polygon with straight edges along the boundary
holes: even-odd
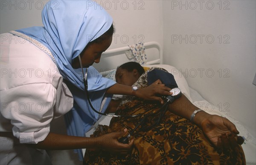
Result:
[[[94,62],[99,63],[102,53],[109,48],[111,42],[112,36],[101,43],[92,43],[88,45],[80,54],[83,67],[90,67]],[[72,67],[75,69],[81,67],[78,57],[74,59]]]

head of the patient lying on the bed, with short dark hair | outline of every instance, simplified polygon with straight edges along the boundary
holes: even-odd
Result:
[[[137,62],[127,62],[116,69],[116,82],[132,86],[138,78],[145,73],[143,67]]]

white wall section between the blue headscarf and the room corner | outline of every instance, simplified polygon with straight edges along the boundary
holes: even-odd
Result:
[[[163,7],[159,1],[96,0],[96,2],[113,17],[116,33],[110,48],[149,41],[157,41],[163,45]]]

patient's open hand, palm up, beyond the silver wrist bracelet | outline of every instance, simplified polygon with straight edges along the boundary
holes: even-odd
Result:
[[[237,144],[244,143],[244,139],[241,136],[237,136],[239,131],[236,126],[227,118],[208,114],[201,121],[200,126],[204,134],[217,148],[233,148]]]

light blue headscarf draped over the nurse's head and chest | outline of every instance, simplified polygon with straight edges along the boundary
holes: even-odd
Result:
[[[88,42],[108,31],[113,20],[102,7],[89,0],[49,1],[43,8],[42,20],[44,27],[17,31],[36,39],[51,50],[61,75],[70,82],[68,87],[74,97],[74,107],[65,116],[68,134],[84,136],[99,119],[99,115],[93,112],[87,102],[81,69],[73,69],[71,64]],[[102,78],[94,67],[88,68],[88,91],[96,109],[99,109],[106,89],[115,83]],[[105,105],[108,105],[111,97],[107,97]],[[106,107],[103,107],[102,112],[105,112]],[[81,150],[79,157],[83,158]]]

